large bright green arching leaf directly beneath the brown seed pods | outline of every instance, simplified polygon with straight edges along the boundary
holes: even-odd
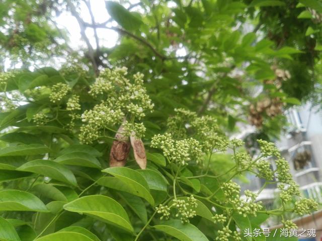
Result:
[[[136,196],[144,198],[152,206],[154,205],[153,197],[150,194],[149,186],[144,177],[137,171],[127,167],[110,167],[102,170],[102,172],[109,173],[117,179],[123,181],[127,188],[135,191]]]

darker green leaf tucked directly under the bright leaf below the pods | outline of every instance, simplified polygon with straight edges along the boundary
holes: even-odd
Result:
[[[135,212],[135,214],[142,220],[143,223],[147,222],[147,213],[145,204],[140,197],[128,194],[126,192],[118,193],[126,204]]]

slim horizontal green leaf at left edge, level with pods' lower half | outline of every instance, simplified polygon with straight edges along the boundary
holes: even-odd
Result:
[[[6,147],[1,149],[0,157],[31,156],[31,155],[45,154],[47,152],[50,152],[50,149],[39,144],[18,145],[18,146]]]

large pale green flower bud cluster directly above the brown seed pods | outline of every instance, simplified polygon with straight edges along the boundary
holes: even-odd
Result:
[[[154,105],[143,87],[143,77],[143,74],[136,73],[131,81],[127,78],[125,67],[105,69],[100,73],[89,93],[95,98],[105,100],[82,114],[82,121],[86,123],[79,135],[82,142],[92,143],[105,128],[120,125],[127,114],[130,114],[131,119],[141,119],[146,111],[152,110]],[[87,129],[91,129],[93,134],[88,136]],[[142,123],[127,123],[125,131],[127,135],[135,132],[136,137],[141,138],[144,136],[145,127]]]

